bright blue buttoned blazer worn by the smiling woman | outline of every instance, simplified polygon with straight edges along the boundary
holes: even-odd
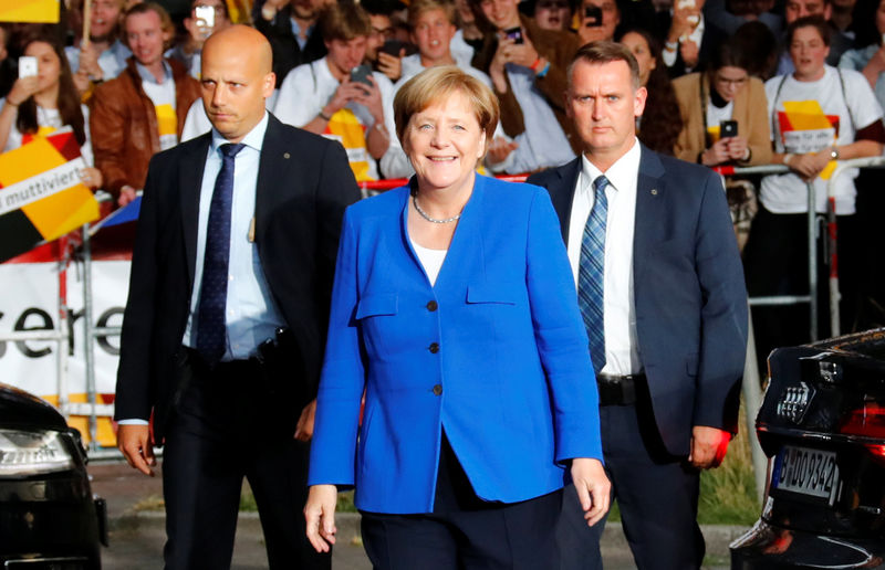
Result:
[[[562,487],[564,462],[602,450],[548,193],[477,176],[435,286],[408,239],[408,208],[403,187],[344,215],[309,484],[355,484],[363,510],[429,513],[445,428],[483,499]]]

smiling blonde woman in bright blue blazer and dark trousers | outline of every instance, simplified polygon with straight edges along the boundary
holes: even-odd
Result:
[[[344,217],[308,536],[329,549],[355,485],[375,568],[553,568],[564,468],[591,524],[610,489],[553,207],[476,175],[498,103],[457,67],[410,80],[394,110],[416,176]]]

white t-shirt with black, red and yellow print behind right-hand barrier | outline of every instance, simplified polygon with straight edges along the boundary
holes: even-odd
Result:
[[[777,152],[805,154],[834,145],[850,145],[858,128],[882,119],[882,108],[866,78],[855,71],[842,70],[842,80],[844,89],[839,72],[825,65],[823,77],[814,82],[800,82],[792,75],[785,78],[779,75],[766,82],[771,137]],[[818,212],[826,211],[827,172],[825,169],[813,182]],[[856,168],[850,169],[836,180],[836,213],[840,215],[855,211],[857,172]],[[770,212],[808,212],[808,186],[793,172],[764,177],[760,199]]]

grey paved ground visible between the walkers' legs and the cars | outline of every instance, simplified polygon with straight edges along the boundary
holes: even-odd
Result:
[[[105,570],[154,570],[162,567],[164,517],[152,509],[162,496],[159,476],[149,478],[131,469],[125,463],[93,463],[93,493],[107,500],[111,522],[111,546],[102,553]],[[333,551],[334,570],[371,570],[372,564],[358,538],[358,515],[342,514],[337,519],[339,545]],[[709,569],[728,568],[728,542],[743,529],[737,527],[705,527]],[[608,524],[603,537],[603,559],[606,570],[634,568],[620,525]],[[240,515],[232,570],[267,568],[263,537],[258,517]]]

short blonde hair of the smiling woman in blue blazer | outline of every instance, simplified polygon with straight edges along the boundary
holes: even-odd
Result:
[[[413,115],[456,93],[460,93],[470,102],[479,128],[486,134],[488,149],[501,114],[498,97],[485,83],[462,72],[457,65],[440,65],[425,70],[408,80],[396,92],[394,122],[399,142],[403,144],[403,136]]]

